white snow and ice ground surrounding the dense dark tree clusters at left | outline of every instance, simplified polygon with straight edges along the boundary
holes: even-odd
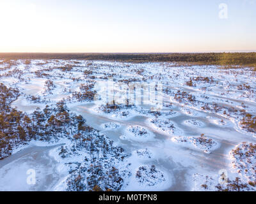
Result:
[[[22,73],[10,74],[15,69]],[[240,125],[246,113],[256,115],[255,77],[249,68],[186,67],[167,62],[38,60],[25,66],[20,60],[0,72],[1,83],[20,91],[13,108],[32,113],[64,100],[70,112],[86,119],[87,126],[106,135],[115,147],[124,148],[124,159],[108,154],[102,160],[115,163],[123,180],[120,191],[232,190],[236,177],[243,184],[256,185],[255,149],[242,143],[255,144],[256,133]],[[148,98],[142,104],[125,105],[116,99],[114,105],[107,105],[109,78],[117,83],[114,92],[120,101],[125,94],[130,98],[134,94],[122,92],[127,84],[161,83],[163,107],[159,109]],[[190,78],[192,86],[187,83]],[[86,165],[84,157],[90,157],[83,149],[61,157],[61,146],[72,152],[72,145],[74,141],[63,139],[17,147],[12,156],[0,160],[0,191],[67,190],[70,170],[77,164]],[[26,184],[29,169],[36,171],[32,186]],[[229,182],[220,184],[220,170],[227,171]],[[88,172],[84,175],[90,175]],[[242,189],[253,190],[253,186]]]

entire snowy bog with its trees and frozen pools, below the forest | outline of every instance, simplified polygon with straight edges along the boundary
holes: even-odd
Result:
[[[255,191],[255,77],[171,62],[0,60],[0,191]]]

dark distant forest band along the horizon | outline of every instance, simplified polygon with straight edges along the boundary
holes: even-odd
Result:
[[[123,62],[184,62],[256,66],[256,52],[172,53],[172,54],[100,54],[100,53],[0,53],[0,59],[83,59]]]

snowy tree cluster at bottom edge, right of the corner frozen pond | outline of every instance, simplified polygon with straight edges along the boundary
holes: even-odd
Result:
[[[99,189],[118,191],[124,180],[119,170],[115,167],[118,161],[123,161],[127,156],[122,147],[113,145],[113,141],[100,135],[99,131],[84,126],[81,120],[79,131],[74,135],[74,147],[72,151],[81,150],[88,157],[84,158],[83,164],[70,171],[68,177],[68,191],[94,191],[95,186]],[[61,147],[60,154],[65,157],[68,149]]]

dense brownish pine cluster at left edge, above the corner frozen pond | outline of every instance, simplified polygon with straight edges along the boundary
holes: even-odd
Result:
[[[0,84],[0,159],[9,156],[20,143],[32,139],[58,140],[76,132],[80,117],[68,113],[63,102],[28,115],[10,107],[18,95],[19,91]]]

